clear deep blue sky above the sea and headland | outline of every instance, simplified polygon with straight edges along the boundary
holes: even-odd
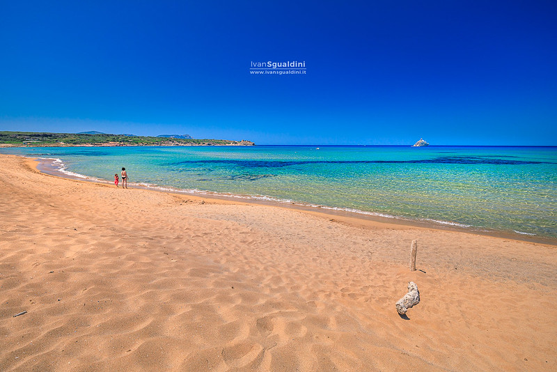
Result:
[[[557,2],[1,1],[0,130],[557,145]]]

